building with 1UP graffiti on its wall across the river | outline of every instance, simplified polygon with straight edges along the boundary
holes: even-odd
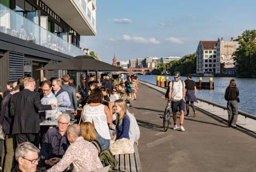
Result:
[[[236,73],[236,67],[234,65],[235,60],[233,53],[238,48],[238,41],[234,41],[231,37],[230,41],[224,41],[223,38],[218,39],[216,45],[216,73],[233,75]]]

